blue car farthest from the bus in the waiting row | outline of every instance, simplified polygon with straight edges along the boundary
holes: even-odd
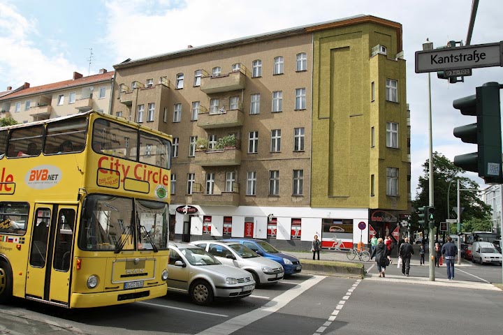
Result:
[[[275,260],[283,266],[285,275],[298,274],[302,270],[302,265],[300,264],[300,260],[298,258],[287,253],[277,251],[274,246],[271,246],[266,241],[262,241],[260,239],[224,239],[224,241],[239,242],[240,244],[244,244],[251,250],[255,251],[258,255],[269,258],[270,260]]]

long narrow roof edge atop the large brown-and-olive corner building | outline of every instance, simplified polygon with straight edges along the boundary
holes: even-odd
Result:
[[[265,40],[273,40],[276,38],[281,38],[281,37],[286,37],[286,36],[296,36],[300,34],[309,34],[313,33],[314,31],[321,31],[325,29],[333,29],[333,28],[338,28],[338,27],[346,27],[349,25],[353,24],[361,24],[361,23],[377,23],[377,24],[382,24],[386,25],[388,27],[391,27],[392,29],[395,29],[397,31],[397,40],[398,40],[398,50],[402,51],[402,24],[386,19],[382,19],[380,17],[375,17],[372,15],[355,15],[351,17],[345,17],[343,19],[339,20],[332,20],[332,21],[327,21],[327,22],[319,22],[319,23],[314,23],[314,24],[308,24],[305,26],[300,26],[300,27],[293,27],[289,29],[282,29],[279,31],[271,31],[268,33],[264,34],[259,34],[259,35],[254,35],[254,36],[247,36],[243,38],[236,38],[233,40],[226,40],[223,42],[217,42],[217,43],[212,43],[208,45],[202,45],[200,47],[189,47],[184,50],[177,50],[175,52],[168,52],[166,54],[157,54],[155,56],[151,57],[145,57],[145,58],[140,58],[140,59],[126,59],[122,63],[115,64],[113,67],[115,70],[119,70],[121,68],[130,68],[133,66],[139,66],[142,64],[149,64],[152,63],[152,61],[164,61],[167,59],[174,59],[177,57],[182,57],[186,56],[189,54],[201,54],[203,52],[208,52],[210,50],[219,50],[219,49],[226,49],[228,47],[233,47],[235,45],[246,45],[250,43],[257,43],[257,42],[262,42]]]

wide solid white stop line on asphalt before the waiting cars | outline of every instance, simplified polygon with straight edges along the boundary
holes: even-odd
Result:
[[[246,327],[252,322],[260,320],[261,318],[265,318],[266,316],[275,313],[280,308],[283,308],[284,306],[286,306],[286,304],[289,304],[290,301],[322,281],[323,278],[326,278],[326,276],[313,276],[312,278],[307,279],[307,281],[303,281],[302,283],[296,285],[296,287],[282,293],[282,295],[278,295],[267,304],[261,306],[261,308],[255,309],[254,311],[250,311],[242,315],[238,315],[235,318],[222,322],[221,324],[214,327],[204,329],[203,332],[199,334],[225,335],[237,332],[242,327]]]

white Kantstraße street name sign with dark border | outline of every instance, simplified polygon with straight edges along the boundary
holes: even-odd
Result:
[[[503,66],[503,41],[416,51],[416,73]]]

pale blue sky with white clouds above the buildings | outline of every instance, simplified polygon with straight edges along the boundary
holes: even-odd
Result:
[[[402,24],[411,110],[411,193],[429,157],[428,74],[414,72],[414,53],[426,38],[434,47],[465,43],[472,0],[0,0],[0,91],[99,73],[125,59],[306,24],[374,15]],[[500,0],[480,0],[471,45],[503,40]],[[90,60],[90,61],[89,61]],[[449,84],[431,74],[432,147],[451,161],[476,151],[453,128],[476,121],[452,107],[485,82],[503,83],[503,68],[475,68],[465,82]],[[466,177],[483,185],[473,172]]]

